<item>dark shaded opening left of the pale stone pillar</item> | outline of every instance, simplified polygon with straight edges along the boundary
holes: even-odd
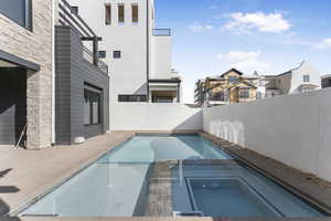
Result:
[[[26,124],[26,71],[0,69],[0,145],[14,145]]]

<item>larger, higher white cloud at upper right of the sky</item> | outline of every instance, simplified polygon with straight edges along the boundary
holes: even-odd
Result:
[[[236,31],[238,33],[250,33],[250,31],[282,33],[292,27],[281,12],[266,14],[256,13],[231,13],[227,15],[229,21],[223,27],[223,30]]]

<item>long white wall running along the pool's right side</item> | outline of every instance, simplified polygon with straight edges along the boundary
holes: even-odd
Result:
[[[203,130],[331,181],[331,90],[203,110]]]

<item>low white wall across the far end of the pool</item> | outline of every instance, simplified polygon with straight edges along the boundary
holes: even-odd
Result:
[[[111,130],[202,130],[202,109],[183,104],[110,104]]]

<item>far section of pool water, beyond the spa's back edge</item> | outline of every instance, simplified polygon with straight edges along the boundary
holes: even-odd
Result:
[[[231,159],[196,135],[136,136],[105,156],[103,162],[153,162],[175,159]]]

